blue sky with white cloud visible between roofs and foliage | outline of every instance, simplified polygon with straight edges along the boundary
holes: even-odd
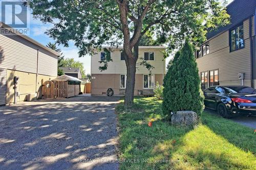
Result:
[[[6,1],[6,0],[0,0],[0,3],[4,2],[4,1]],[[13,1],[13,0],[8,0],[8,1]],[[228,4],[231,2],[232,2],[232,0],[227,0]],[[0,6],[0,7],[1,7],[0,10],[3,11],[3,6]],[[19,9],[18,7],[17,7],[17,9],[15,8],[16,13],[18,13],[18,10],[21,10],[21,9]],[[11,8],[10,8],[10,10],[5,10],[5,11],[6,11],[6,16],[11,16],[11,12],[12,12]],[[1,13],[2,12],[0,12],[0,20],[2,21]],[[31,15],[31,11],[29,13],[30,13],[30,14],[28,14],[29,34],[26,34],[26,35],[44,45],[47,45],[48,42],[54,43],[54,40],[45,34],[47,29],[52,28],[52,25],[42,23],[39,19],[33,18],[33,16]],[[7,24],[8,24],[8,22],[11,23],[10,18],[7,18],[6,22],[7,22]],[[87,55],[87,56],[79,58],[78,57],[78,49],[74,45],[74,42],[70,41],[69,47],[63,47],[62,45],[59,45],[58,47],[61,49],[65,58],[74,58],[76,61],[82,62],[84,65],[84,68],[86,70],[86,74],[90,74],[90,72],[91,72],[91,57],[89,55]],[[172,56],[170,56],[166,59],[166,64],[168,63],[168,61],[171,58],[172,58]]]

